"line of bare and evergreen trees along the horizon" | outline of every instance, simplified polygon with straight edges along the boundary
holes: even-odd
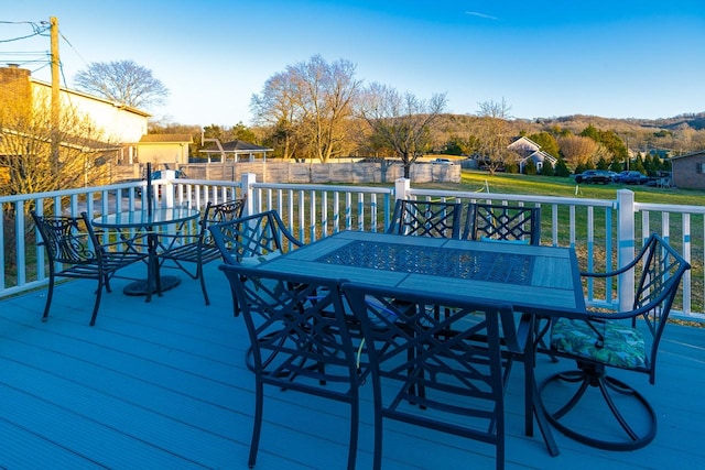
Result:
[[[159,105],[169,95],[151,70],[131,61],[90,64],[77,74],[75,83],[80,89],[135,107]],[[475,156],[490,172],[516,172],[522,155],[508,145],[523,135],[558,159],[555,166],[543,165],[542,173],[564,175],[587,168],[657,172],[668,170],[668,164],[654,155],[705,147],[705,130],[682,124],[673,130],[644,130],[620,122],[605,130],[611,122],[595,125],[593,121],[600,119],[595,117],[587,117],[583,127],[578,127],[579,119],[513,119],[503,98],[479,102],[475,114],[459,117],[445,114],[446,103],[445,94],[421,99],[389,85],[365,85],[349,61],[329,63],[314,55],[275,73],[261,92],[251,97],[251,128],[241,122],[232,128],[207,125],[203,132],[191,127],[192,154],[198,154],[202,134],[268,146],[274,149],[272,157],[284,160],[325,163],[351,155],[395,157],[408,174],[421,155],[447,153]],[[183,128],[152,124],[150,132],[183,133]],[[533,162],[525,162],[523,171],[534,172]]]

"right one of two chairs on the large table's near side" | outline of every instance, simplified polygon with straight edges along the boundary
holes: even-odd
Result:
[[[361,324],[375,398],[375,460],[382,466],[383,420],[449,433],[496,447],[505,464],[505,347],[520,353],[514,316],[502,305],[471,305],[343,283]],[[427,305],[448,305],[440,319]],[[513,331],[513,332],[510,332]]]

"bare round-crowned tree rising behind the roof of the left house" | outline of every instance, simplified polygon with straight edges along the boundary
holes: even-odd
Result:
[[[132,61],[94,62],[76,74],[74,85],[133,108],[162,106],[169,97],[169,89],[152,70]]]

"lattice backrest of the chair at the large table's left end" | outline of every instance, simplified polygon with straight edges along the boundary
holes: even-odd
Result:
[[[289,232],[275,210],[214,223],[208,229],[223,260],[228,264],[276,255],[303,245]]]

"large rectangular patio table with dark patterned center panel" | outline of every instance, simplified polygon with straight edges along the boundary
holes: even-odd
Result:
[[[572,248],[344,231],[265,261],[258,270],[429,292],[480,305],[500,300],[514,311],[538,316],[585,315]],[[533,331],[528,335],[533,345]],[[533,351],[525,353],[527,400],[549,452],[556,456],[558,448],[536,390]],[[525,419],[525,433],[531,436],[529,413]]]

